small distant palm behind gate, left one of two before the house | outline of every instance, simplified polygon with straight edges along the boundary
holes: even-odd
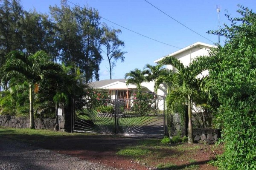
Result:
[[[138,91],[141,90],[141,83],[144,82],[145,79],[145,75],[146,74],[150,74],[150,72],[148,70],[143,70],[141,71],[138,68],[135,68],[133,71],[130,71],[129,73],[125,74],[125,79],[128,77],[128,79],[126,80],[126,85],[130,84],[130,83],[134,83],[137,85],[137,89]]]

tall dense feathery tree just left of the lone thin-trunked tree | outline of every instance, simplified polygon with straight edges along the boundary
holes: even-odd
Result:
[[[60,53],[59,59],[65,64],[76,62],[86,83],[93,78],[99,80],[102,28],[98,11],[87,6],[70,8],[64,1],[61,7],[50,6],[49,9],[56,24],[55,48]]]

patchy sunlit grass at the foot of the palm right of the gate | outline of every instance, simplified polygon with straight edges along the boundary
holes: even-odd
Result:
[[[196,170],[199,165],[192,156],[196,152],[195,150],[199,148],[200,146],[195,144],[163,144],[160,139],[143,139],[138,141],[136,146],[130,145],[119,148],[117,154],[136,161],[146,162],[150,166],[157,166],[159,170]],[[182,162],[182,165],[176,165],[175,162],[170,161],[165,163],[165,160],[178,160]]]

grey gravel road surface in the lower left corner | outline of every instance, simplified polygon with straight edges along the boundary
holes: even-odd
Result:
[[[29,144],[0,139],[0,170],[116,170]]]

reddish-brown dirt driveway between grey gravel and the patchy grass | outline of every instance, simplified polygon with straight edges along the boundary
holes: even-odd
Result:
[[[26,136],[26,140],[28,140],[28,136]],[[118,149],[137,144],[138,140],[141,139],[112,135],[76,135],[57,137],[47,142],[41,142],[37,146],[80,159],[107,164],[118,169],[148,170],[141,164],[135,164],[130,159],[116,155]]]

